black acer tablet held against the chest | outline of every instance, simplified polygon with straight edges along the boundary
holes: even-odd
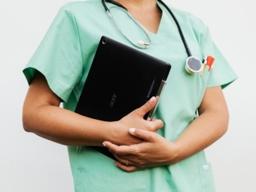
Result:
[[[75,112],[115,121],[160,97],[171,65],[133,47],[102,36]],[[156,107],[145,114],[151,120]],[[92,147],[113,159],[103,147]]]

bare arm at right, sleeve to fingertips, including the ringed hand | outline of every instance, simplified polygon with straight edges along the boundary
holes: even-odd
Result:
[[[127,172],[178,163],[212,145],[227,131],[229,115],[221,87],[206,89],[199,114],[175,142],[169,142],[157,133],[130,129],[131,135],[145,142],[130,146],[104,144],[119,160],[115,165]],[[126,166],[126,160],[130,166]]]

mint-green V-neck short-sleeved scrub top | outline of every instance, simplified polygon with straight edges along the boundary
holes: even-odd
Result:
[[[123,32],[134,42],[148,41],[142,29],[125,12],[108,2],[106,5]],[[201,60],[205,56],[215,57],[211,72],[206,68],[203,77],[188,74],[184,69],[187,53],[177,26],[163,5],[158,5],[163,13],[158,32],[146,30],[152,44],[141,51],[172,64],[154,117],[164,123],[157,133],[175,141],[194,120],[206,87],[221,85],[224,88],[236,79],[236,74],[215,46],[207,26],[197,17],[169,7],[184,32],[192,55]],[[47,79],[50,89],[63,100],[63,107],[74,111],[102,35],[133,47],[114,26],[100,0],[64,5],[23,70],[27,81],[30,84],[35,69],[38,70]],[[90,147],[69,146],[68,151],[76,192],[215,191],[212,167],[203,151],[174,165],[136,172],[123,172],[114,166],[114,160]]]

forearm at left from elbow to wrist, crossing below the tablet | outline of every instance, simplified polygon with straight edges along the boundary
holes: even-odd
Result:
[[[23,113],[26,131],[62,145],[102,146],[107,138],[118,142],[115,123],[94,120],[53,105],[38,106]]]

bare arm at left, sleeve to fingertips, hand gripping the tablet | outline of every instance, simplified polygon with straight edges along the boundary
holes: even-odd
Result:
[[[163,126],[161,120],[144,120],[144,114],[156,103],[153,98],[141,108],[115,122],[84,117],[59,108],[61,99],[50,90],[44,75],[36,72],[23,105],[24,130],[62,145],[102,146],[105,140],[117,145],[131,145],[142,139],[131,136],[131,126],[156,131]]]

